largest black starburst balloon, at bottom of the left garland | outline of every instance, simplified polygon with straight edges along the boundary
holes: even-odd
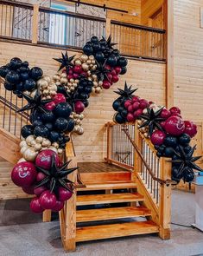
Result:
[[[37,170],[46,175],[46,177],[40,181],[36,187],[48,186],[51,192],[58,195],[58,188],[64,187],[68,191],[73,192],[73,181],[67,179],[68,174],[72,174],[73,171],[78,169],[78,167],[67,168],[70,161],[67,161],[62,165],[62,167],[57,167],[55,157],[52,155],[51,167],[49,170],[42,167],[36,167]]]

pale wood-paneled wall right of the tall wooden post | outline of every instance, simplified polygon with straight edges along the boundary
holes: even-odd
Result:
[[[174,104],[185,118],[203,120],[203,0],[174,0]]]

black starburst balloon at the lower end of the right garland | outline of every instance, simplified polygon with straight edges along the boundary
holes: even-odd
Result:
[[[193,146],[193,148],[191,148],[191,150],[186,153],[184,151],[184,148],[182,148],[179,145],[179,152],[176,152],[174,150],[174,155],[176,160],[170,160],[170,162],[172,162],[175,165],[178,165],[177,169],[178,169],[178,173],[177,173],[177,177],[181,177],[182,174],[184,173],[184,171],[187,170],[197,170],[199,172],[202,172],[202,168],[200,168],[199,166],[197,166],[194,162],[198,161],[202,156],[193,156],[193,152],[196,149],[196,145]]]

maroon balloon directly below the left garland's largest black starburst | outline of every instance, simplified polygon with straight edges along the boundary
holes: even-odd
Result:
[[[50,190],[44,191],[40,196],[40,204],[43,209],[51,210],[56,205],[56,196]]]

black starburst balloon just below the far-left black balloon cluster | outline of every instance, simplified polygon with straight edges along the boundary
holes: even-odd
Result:
[[[20,108],[19,110],[17,110],[17,112],[24,112],[26,110],[32,110],[34,113],[37,112],[38,110],[44,113],[47,113],[48,110],[46,110],[44,108],[44,105],[48,102],[52,102],[53,100],[41,100],[41,95],[39,95],[38,92],[36,92],[34,98],[26,95],[24,93],[22,93],[22,96],[26,99],[26,101],[28,102],[27,105],[25,105],[24,107]]]

